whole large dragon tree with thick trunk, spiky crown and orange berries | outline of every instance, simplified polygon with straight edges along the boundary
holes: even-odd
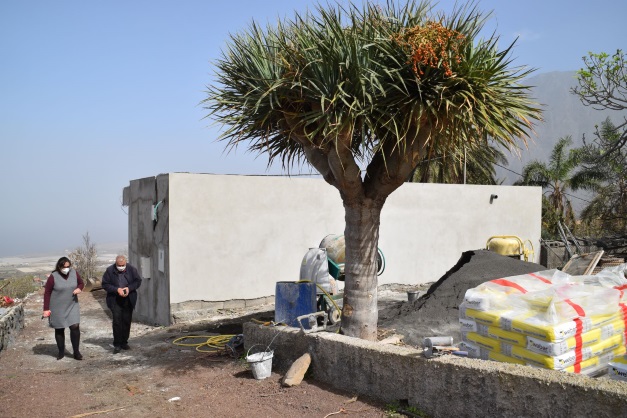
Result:
[[[342,332],[377,333],[377,244],[387,197],[433,149],[527,138],[540,109],[485,16],[416,0],[325,4],[231,35],[203,101],[227,148],[309,163],[345,209]],[[365,170],[362,171],[362,167]]]

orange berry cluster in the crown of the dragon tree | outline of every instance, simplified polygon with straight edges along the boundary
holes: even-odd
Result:
[[[410,51],[407,61],[412,65],[416,77],[424,75],[421,67],[437,68],[440,64],[444,75],[451,77],[451,62],[461,62],[459,50],[465,36],[444,27],[439,22],[427,22],[424,26],[415,26],[398,34],[394,40]]]

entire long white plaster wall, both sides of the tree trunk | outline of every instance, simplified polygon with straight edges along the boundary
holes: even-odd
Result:
[[[435,281],[493,235],[539,250],[540,217],[539,187],[404,184],[381,215],[379,283]],[[339,192],[323,180],[171,173],[170,303],[273,295],[298,280],[308,248],[343,232]]]

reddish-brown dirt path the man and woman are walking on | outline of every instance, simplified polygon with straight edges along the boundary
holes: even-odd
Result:
[[[255,380],[241,359],[172,343],[184,335],[207,334],[191,332],[193,326],[134,323],[132,349],[114,355],[103,291],[80,295],[84,360],[71,355],[57,360],[54,331],[40,319],[42,300],[42,291],[27,298],[26,327],[0,352],[1,417],[385,416],[384,405],[306,380],[282,388],[277,373]],[[66,340],[70,347],[68,331]]]

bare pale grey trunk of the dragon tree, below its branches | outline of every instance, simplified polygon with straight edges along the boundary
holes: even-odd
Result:
[[[377,340],[377,245],[383,203],[371,199],[344,202],[346,264],[342,333]]]

